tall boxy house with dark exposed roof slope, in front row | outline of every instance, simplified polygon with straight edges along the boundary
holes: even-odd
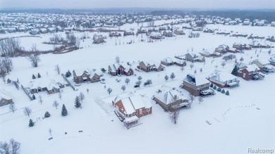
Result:
[[[195,75],[186,75],[183,79],[183,89],[188,91],[193,96],[200,96],[203,94],[203,91],[208,91],[210,82],[201,76]]]

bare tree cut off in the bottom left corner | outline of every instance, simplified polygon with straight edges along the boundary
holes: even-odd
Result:
[[[14,139],[10,140],[10,143],[0,142],[0,153],[1,154],[18,154],[20,151],[21,143],[15,141]]]

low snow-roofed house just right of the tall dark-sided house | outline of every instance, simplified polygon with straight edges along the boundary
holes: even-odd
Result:
[[[238,80],[237,77],[231,75],[231,73],[219,70],[214,70],[214,72],[212,72],[207,79],[209,80],[209,82],[212,82],[220,88],[240,85],[240,80]]]

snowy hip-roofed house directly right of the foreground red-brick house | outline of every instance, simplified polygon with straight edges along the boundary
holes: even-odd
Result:
[[[185,96],[182,96],[176,90],[160,91],[153,96],[153,100],[166,111],[173,111],[178,108],[190,106],[188,98],[185,98]]]

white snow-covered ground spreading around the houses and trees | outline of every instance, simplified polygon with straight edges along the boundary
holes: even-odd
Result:
[[[129,30],[130,27],[137,30],[137,26],[125,25],[121,30]],[[274,27],[207,26],[229,32],[275,35]],[[188,34],[188,30],[185,33]],[[250,43],[247,38],[201,33],[200,38],[193,39],[184,35],[147,43],[139,41],[139,35],[106,39],[106,44],[92,44],[92,34],[89,33],[90,39],[81,42],[83,49],[65,54],[41,55],[38,68],[32,68],[26,58],[13,58],[13,71],[6,78],[18,78],[20,84],[25,86],[32,79],[32,74],[37,75],[38,72],[42,77],[56,78],[55,65],[59,65],[63,73],[76,69],[96,69],[99,72],[100,68],[107,69],[108,65],[115,63],[115,57],[119,56],[121,63],[126,65],[130,62],[136,68],[139,60],[159,62],[166,57],[191,52],[192,48],[193,53],[198,54],[202,49],[214,50],[221,44],[232,46],[234,42]],[[31,44],[37,42],[38,49],[51,49],[49,45],[39,44],[43,40],[48,41],[49,34],[42,34],[41,37],[26,37],[21,44],[29,49]],[[146,38],[145,35],[143,37]],[[126,44],[130,40],[135,43]],[[271,44],[269,41],[266,43]],[[237,60],[243,57],[243,63],[249,63],[251,57],[257,58],[257,54],[260,60],[268,60],[268,50],[262,49],[259,52],[257,49],[255,53],[255,49],[252,49],[236,53],[236,57]],[[274,53],[274,49],[271,49],[271,54]],[[192,70],[188,62],[183,72],[177,66],[166,67],[162,72],[135,71],[136,76],[129,77],[128,85],[124,83],[126,76],[111,77],[105,73],[103,78],[106,79],[106,84],[81,84],[76,86],[77,91],[68,86],[62,89],[61,99],[58,94],[41,93],[42,104],[38,100],[30,101],[22,89],[17,90],[11,84],[0,82],[1,88],[13,97],[18,109],[11,113],[8,105],[0,107],[0,141],[16,139],[22,143],[21,153],[247,153],[248,148],[275,149],[275,73],[266,75],[259,81],[247,82],[239,78],[240,86],[228,89],[230,96],[216,92],[215,96],[204,98],[202,103],[195,100],[190,109],[181,110],[177,124],[173,124],[168,113],[154,101],[152,115],[141,117],[139,122],[142,124],[138,127],[126,129],[114,114],[115,108],[110,100],[119,94],[132,91],[151,98],[163,84],[178,87],[183,77],[188,73],[194,74],[194,70],[203,77],[213,72],[215,65],[218,65],[217,70],[233,70],[234,60],[228,60],[224,68],[221,62],[221,58],[206,58],[205,65],[195,63]],[[199,71],[200,68],[202,72]],[[175,73],[176,78],[165,82],[164,76],[171,72]],[[152,79],[153,84],[135,89],[133,86],[139,75],[143,82]],[[116,79],[121,79],[121,82],[116,82]],[[110,96],[104,85],[106,89],[113,89]],[[124,92],[121,90],[122,85],[126,85]],[[86,89],[90,89],[88,94]],[[186,91],[181,91],[188,96]],[[85,100],[82,108],[78,109],[74,106],[74,99],[80,92],[85,94]],[[55,100],[60,104],[58,109],[52,106]],[[68,110],[66,117],[61,116],[62,104]],[[30,117],[23,114],[26,106],[32,108]],[[51,117],[42,119],[46,111],[49,111]],[[34,127],[28,127],[30,118],[35,121]],[[207,124],[206,120],[212,124]],[[48,140],[51,137],[49,128],[53,131],[51,140]],[[80,130],[83,132],[79,132]]]

